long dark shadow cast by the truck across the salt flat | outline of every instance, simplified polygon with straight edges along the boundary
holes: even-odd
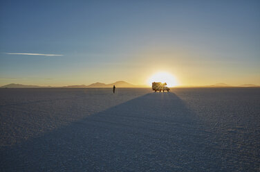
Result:
[[[217,169],[221,162],[205,146],[208,135],[176,94],[145,94],[3,148],[1,171]]]

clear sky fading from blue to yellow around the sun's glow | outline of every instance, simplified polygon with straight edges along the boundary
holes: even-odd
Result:
[[[260,1],[1,1],[0,85],[260,85]]]

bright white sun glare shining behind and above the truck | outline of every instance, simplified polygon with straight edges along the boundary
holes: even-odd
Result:
[[[167,83],[167,87],[174,87],[177,85],[174,76],[167,72],[158,72],[151,76],[148,80],[148,84],[151,85],[153,82]]]

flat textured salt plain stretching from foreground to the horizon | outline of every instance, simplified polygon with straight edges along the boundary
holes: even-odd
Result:
[[[0,89],[0,171],[260,171],[260,89]]]

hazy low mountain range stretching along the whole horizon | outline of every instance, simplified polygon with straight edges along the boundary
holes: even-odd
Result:
[[[105,84],[105,83],[93,83],[91,85],[68,85],[64,87],[44,87],[44,86],[38,86],[38,85],[21,85],[21,84],[8,84],[3,85],[0,88],[108,88],[108,87],[147,87],[147,86],[140,86],[140,85],[132,85],[130,83],[127,83],[123,80],[117,81],[115,83],[111,84]],[[177,87],[260,87],[260,85],[254,85],[254,84],[243,84],[238,86],[232,86],[225,83],[216,83],[214,85],[201,85],[201,86],[177,86]]]

